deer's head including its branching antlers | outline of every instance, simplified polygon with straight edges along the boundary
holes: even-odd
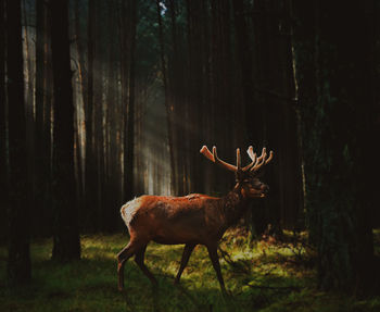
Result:
[[[249,147],[246,150],[251,163],[246,166],[241,166],[241,157],[240,149],[237,149],[237,164],[232,165],[217,157],[216,147],[213,147],[213,152],[211,152],[206,146],[203,146],[201,149],[201,153],[208,160],[214,163],[217,163],[224,169],[228,171],[235,172],[237,185],[236,189],[238,189],[241,195],[245,198],[257,198],[265,197],[269,190],[269,187],[259,180],[259,177],[263,174],[263,169],[266,164],[268,164],[273,157],[274,152],[269,152],[269,157],[266,152],[266,148],[263,148],[262,155],[257,157],[255,152],[253,152],[253,147]]]

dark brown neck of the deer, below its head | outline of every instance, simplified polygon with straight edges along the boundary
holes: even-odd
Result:
[[[226,228],[235,225],[243,216],[249,207],[249,198],[241,192],[241,187],[236,185],[235,188],[221,198],[221,208],[225,216]]]

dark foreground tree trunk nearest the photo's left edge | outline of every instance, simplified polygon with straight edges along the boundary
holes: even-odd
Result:
[[[29,205],[27,202],[26,112],[24,102],[21,1],[7,1],[9,108],[9,259],[11,285],[30,279]]]

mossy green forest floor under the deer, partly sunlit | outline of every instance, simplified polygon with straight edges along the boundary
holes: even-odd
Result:
[[[375,232],[380,254],[380,230]],[[31,244],[33,282],[5,287],[7,249],[0,247],[0,311],[380,311],[380,297],[359,300],[316,289],[315,254],[302,241],[284,235],[248,244],[244,233],[230,230],[220,244],[224,298],[204,247],[197,247],[174,286],[182,246],[150,244],[145,263],[159,279],[153,289],[134,261],[125,267],[126,289],[117,290],[116,253],[126,235],[81,237],[83,259],[67,264],[50,260],[52,240]]]

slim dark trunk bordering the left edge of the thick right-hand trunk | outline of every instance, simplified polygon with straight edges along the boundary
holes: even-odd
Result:
[[[281,222],[286,228],[304,229],[304,192],[303,192],[303,153],[301,139],[299,88],[295,77],[294,41],[291,16],[291,1],[283,1],[281,33],[281,67],[283,91],[283,132],[281,150],[283,153],[283,175],[281,188],[283,192]]]

